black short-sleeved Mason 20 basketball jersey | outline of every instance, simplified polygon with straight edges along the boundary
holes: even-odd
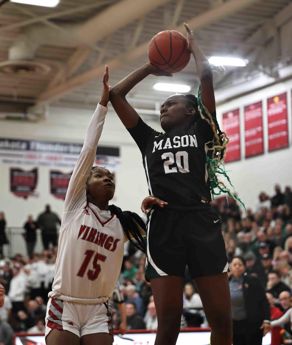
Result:
[[[200,118],[187,129],[159,133],[139,118],[128,131],[142,153],[150,195],[178,208],[211,201],[205,143],[214,134],[207,121]]]

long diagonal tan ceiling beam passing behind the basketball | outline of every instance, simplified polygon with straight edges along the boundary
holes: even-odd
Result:
[[[126,0],[129,1],[129,0]],[[157,0],[156,0],[157,1]],[[211,9],[209,11],[206,11],[202,13],[200,16],[194,17],[193,19],[188,21],[189,27],[193,30],[199,29],[203,26],[206,26],[207,24],[210,24],[212,22],[218,21],[219,19],[226,17],[230,15],[231,13],[234,13],[246,6],[249,6],[259,0],[229,0],[225,3],[223,3],[221,6],[216,7],[215,9]],[[124,2],[124,1],[122,1]],[[148,2],[148,1],[145,1]],[[112,6],[113,7],[113,6]],[[106,25],[104,29],[108,29],[110,25]],[[105,31],[106,31],[105,30]],[[185,29],[183,25],[180,25],[176,28],[174,28],[176,31],[182,31],[184,32]],[[95,30],[97,32],[98,30]],[[89,38],[87,38],[89,39]],[[121,57],[116,57],[114,59],[111,59],[106,64],[109,66],[110,73],[112,73],[113,70],[122,67],[124,64],[122,61],[127,60],[133,61],[143,55],[147,52],[149,42],[145,42],[142,45],[138,46],[137,48],[132,49],[131,51],[123,54]],[[57,87],[47,89],[39,96],[39,101],[51,101],[58,99],[65,95],[66,93],[74,90],[75,88],[81,87],[82,85],[97,79],[102,76],[104,72],[104,65],[100,65],[97,67],[94,67],[80,75],[77,75],[69,80],[67,80],[62,85],[59,85]]]

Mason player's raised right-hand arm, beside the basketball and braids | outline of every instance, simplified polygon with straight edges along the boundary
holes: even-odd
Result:
[[[210,114],[212,114],[215,110],[213,72],[208,59],[197,45],[193,32],[189,29],[188,24],[184,23],[184,27],[186,29],[188,49],[195,58],[197,72],[201,82],[201,100],[203,105],[209,110]]]

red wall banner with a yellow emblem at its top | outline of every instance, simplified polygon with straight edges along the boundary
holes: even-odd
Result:
[[[288,146],[287,94],[267,99],[269,151]]]

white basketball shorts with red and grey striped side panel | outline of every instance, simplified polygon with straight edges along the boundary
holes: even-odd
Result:
[[[70,331],[80,338],[93,333],[112,335],[108,304],[79,304],[50,298],[47,305],[45,336],[53,328]]]

